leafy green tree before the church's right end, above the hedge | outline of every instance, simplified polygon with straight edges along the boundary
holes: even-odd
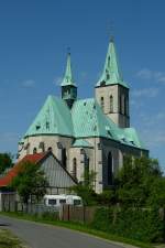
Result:
[[[153,194],[153,184],[162,177],[157,160],[125,158],[116,180],[118,201],[123,205],[146,206]]]

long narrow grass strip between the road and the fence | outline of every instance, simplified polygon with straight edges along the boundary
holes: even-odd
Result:
[[[145,244],[145,242],[141,242],[138,240],[119,237],[117,235],[108,234],[105,231],[91,229],[89,226],[79,224],[79,223],[62,222],[62,220],[53,220],[53,219],[50,220],[50,219],[45,219],[42,217],[36,217],[33,215],[22,214],[22,213],[4,213],[3,212],[0,214],[9,216],[9,217],[19,218],[19,219],[25,219],[25,220],[36,222],[36,223],[41,223],[41,224],[48,224],[48,225],[53,225],[53,226],[65,227],[65,228],[74,229],[77,231],[82,231],[82,233],[86,233],[86,234],[89,234],[92,236],[97,236],[99,238],[107,239],[109,241],[122,242],[125,245],[129,244],[129,245],[132,245],[135,247],[141,247],[141,248],[154,248],[155,247],[152,244]]]

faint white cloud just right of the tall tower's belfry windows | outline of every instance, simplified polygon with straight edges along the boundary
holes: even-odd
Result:
[[[142,88],[142,89],[136,89],[132,91],[133,97],[148,97],[148,98],[154,98],[158,95],[160,89],[158,88]]]

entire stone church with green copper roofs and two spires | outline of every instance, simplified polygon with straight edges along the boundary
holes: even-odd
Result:
[[[94,98],[78,99],[70,53],[61,87],[62,97],[47,96],[20,140],[18,158],[51,150],[78,182],[86,180],[85,172],[96,172],[94,190],[101,193],[113,184],[125,155],[148,154],[130,127],[129,86],[119,68],[113,39]]]

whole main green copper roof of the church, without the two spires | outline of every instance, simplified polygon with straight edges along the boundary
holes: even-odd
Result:
[[[73,137],[76,142],[78,139],[102,137],[144,149],[136,131],[119,128],[102,112],[95,98],[76,100],[69,110],[65,100],[48,96],[24,137],[41,134]]]

